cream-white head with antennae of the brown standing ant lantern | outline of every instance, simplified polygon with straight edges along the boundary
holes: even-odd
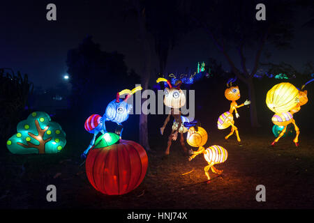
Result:
[[[181,80],[178,80],[175,83],[176,86],[172,86],[172,84],[170,84],[167,79],[162,77],[159,77],[156,82],[167,82],[168,86],[170,87],[165,88],[164,90],[165,98],[163,99],[163,103],[165,106],[179,109],[186,104],[186,95],[184,95],[184,92],[180,89],[182,84]]]

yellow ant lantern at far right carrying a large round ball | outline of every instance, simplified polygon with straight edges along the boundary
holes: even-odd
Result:
[[[313,82],[314,79],[306,84]],[[301,90],[306,86],[304,84]],[[301,91],[288,82],[282,82],[273,86],[266,95],[266,104],[271,111],[275,112],[271,121],[278,126],[283,126],[283,130],[278,137],[271,143],[274,146],[287,131],[287,125],[292,123],[296,136],[293,139],[295,146],[299,146],[300,130],[294,121],[293,114],[300,111],[301,106],[308,102],[307,91]]]

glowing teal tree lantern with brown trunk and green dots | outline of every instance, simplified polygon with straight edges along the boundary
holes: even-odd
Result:
[[[6,146],[11,153],[59,153],[66,146],[66,133],[45,112],[32,112],[17,124],[17,133]]]

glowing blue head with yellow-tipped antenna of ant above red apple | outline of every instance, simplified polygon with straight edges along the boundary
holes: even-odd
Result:
[[[107,120],[115,122],[115,123],[123,123],[128,119],[128,114],[130,114],[131,109],[133,108],[132,105],[128,104],[128,98],[130,98],[133,93],[136,91],[142,90],[141,86],[137,86],[135,89],[129,90],[124,89],[117,93],[117,99],[112,100],[107,105],[105,116]],[[120,100],[120,96],[127,93],[126,98],[124,100]]]

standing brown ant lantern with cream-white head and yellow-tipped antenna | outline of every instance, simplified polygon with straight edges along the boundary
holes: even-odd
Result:
[[[180,142],[181,146],[184,148],[184,152],[187,152],[188,149],[186,148],[186,145],[184,144],[184,136],[183,134],[187,132],[187,128],[184,127],[183,123],[188,122],[188,118],[181,116],[180,108],[183,107],[186,104],[186,95],[184,95],[184,92],[180,89],[180,86],[182,82],[179,80],[175,83],[176,86],[172,86],[170,82],[165,78],[158,78],[157,83],[159,82],[167,82],[169,88],[165,88],[165,98],[163,100],[163,103],[165,106],[170,107],[170,114],[168,114],[167,118],[165,119],[165,122],[163,123],[163,127],[160,128],[160,133],[163,134],[163,131],[165,130],[165,126],[170,121],[170,116],[174,117],[174,123],[172,125],[172,132],[170,136],[168,137],[167,142],[167,149],[165,151],[165,155],[169,155],[170,153],[170,146],[172,144],[172,140],[177,140],[178,133],[180,133]]]

